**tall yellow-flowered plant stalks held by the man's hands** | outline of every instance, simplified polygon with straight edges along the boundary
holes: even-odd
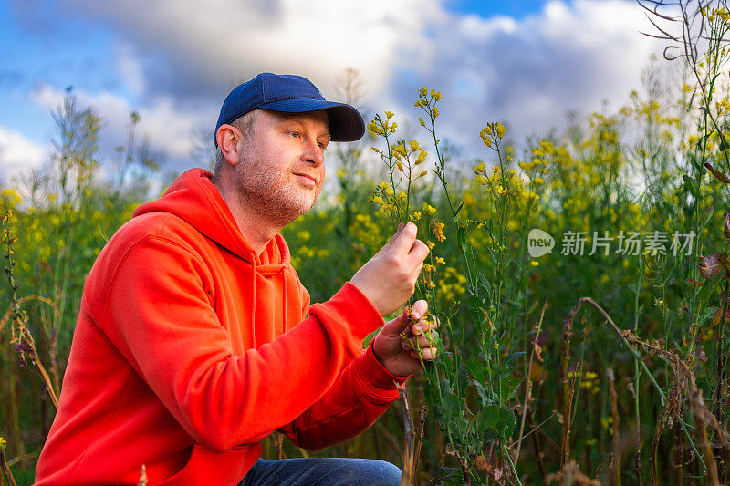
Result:
[[[501,480],[503,477],[511,483],[520,484],[520,480],[509,453],[508,438],[516,425],[515,414],[509,405],[516,398],[516,389],[523,377],[513,372],[512,367],[524,352],[508,352],[508,342],[503,342],[506,323],[503,315],[503,293],[501,292],[501,275],[506,262],[506,216],[511,204],[511,196],[519,190],[520,180],[512,171],[501,184],[489,186],[499,198],[504,218],[499,222],[470,220],[460,217],[464,202],[456,205],[446,173],[446,157],[443,154],[441,140],[436,135],[436,118],[440,115],[437,103],[442,94],[435,89],[419,90],[416,108],[421,108],[424,117],[420,124],[430,134],[435,151],[433,174],[436,176],[447,205],[446,222],[454,228],[458,249],[464,265],[465,295],[468,322],[454,332],[455,305],[440,307],[437,299],[439,287],[438,264],[445,264],[442,244],[447,236],[444,230],[446,223],[437,218],[437,212],[428,204],[422,205],[421,211],[411,212],[414,207],[413,183],[422,179],[428,171],[420,166],[427,157],[416,140],[399,140],[392,143],[392,135],[397,123],[392,121],[393,114],[386,112],[384,117],[376,115],[369,125],[370,132],[381,136],[385,141],[385,149],[373,149],[381,155],[381,160],[388,169],[389,181],[384,181],[375,189],[372,201],[381,206],[392,223],[412,221],[420,227],[430,230],[433,240],[426,243],[431,248],[429,262],[423,265],[422,278],[417,284],[416,296],[429,301],[433,315],[438,316],[443,329],[448,334],[448,346],[433,339],[433,346],[439,354],[433,363],[424,364],[425,399],[434,412],[439,428],[447,440],[447,452],[454,455],[462,470],[463,481]],[[512,161],[511,156],[500,150],[506,128],[500,123],[492,123],[482,130],[480,136],[487,147],[493,148],[505,167]],[[484,181],[485,166],[480,164],[476,169],[477,181]],[[495,181],[494,178],[489,180]],[[512,191],[512,193],[510,193]],[[474,248],[470,243],[470,232],[486,230],[495,243],[496,262],[493,278],[489,279],[478,269],[474,257]],[[458,302],[456,303],[458,304]],[[496,323],[496,324],[495,324]],[[463,357],[459,353],[456,335],[464,345],[465,330],[474,327],[478,336],[478,353]],[[404,336],[404,338],[409,338]]]

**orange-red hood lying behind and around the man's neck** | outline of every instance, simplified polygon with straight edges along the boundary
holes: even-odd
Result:
[[[289,249],[279,233],[266,244],[261,254],[255,253],[238,229],[233,213],[212,178],[213,174],[204,169],[186,171],[162,198],[142,204],[132,217],[150,212],[170,212],[246,262],[267,267],[259,271],[276,272],[289,264]]]

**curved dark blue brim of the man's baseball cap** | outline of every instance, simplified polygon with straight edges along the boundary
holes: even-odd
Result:
[[[332,141],[360,140],[365,134],[365,121],[362,119],[360,111],[344,103],[334,103],[323,99],[294,98],[264,103],[257,108],[287,113],[305,113],[324,109],[327,110],[329,136]]]

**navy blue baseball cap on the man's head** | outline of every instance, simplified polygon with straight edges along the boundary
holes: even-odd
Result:
[[[223,102],[213,138],[221,125],[231,123],[252,109],[271,109],[287,113],[303,113],[324,109],[329,119],[332,141],[359,140],[365,133],[360,112],[344,103],[328,101],[307,78],[294,75],[261,73],[238,85]]]

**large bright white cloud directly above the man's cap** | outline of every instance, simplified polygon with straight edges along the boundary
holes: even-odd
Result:
[[[235,81],[263,70],[301,74],[328,94],[336,75],[356,67],[370,91],[380,93],[393,69],[411,67],[409,53],[425,41],[423,26],[442,14],[439,0],[61,4],[119,26],[136,52],[154,58],[145,64],[151,92],[221,99]]]

